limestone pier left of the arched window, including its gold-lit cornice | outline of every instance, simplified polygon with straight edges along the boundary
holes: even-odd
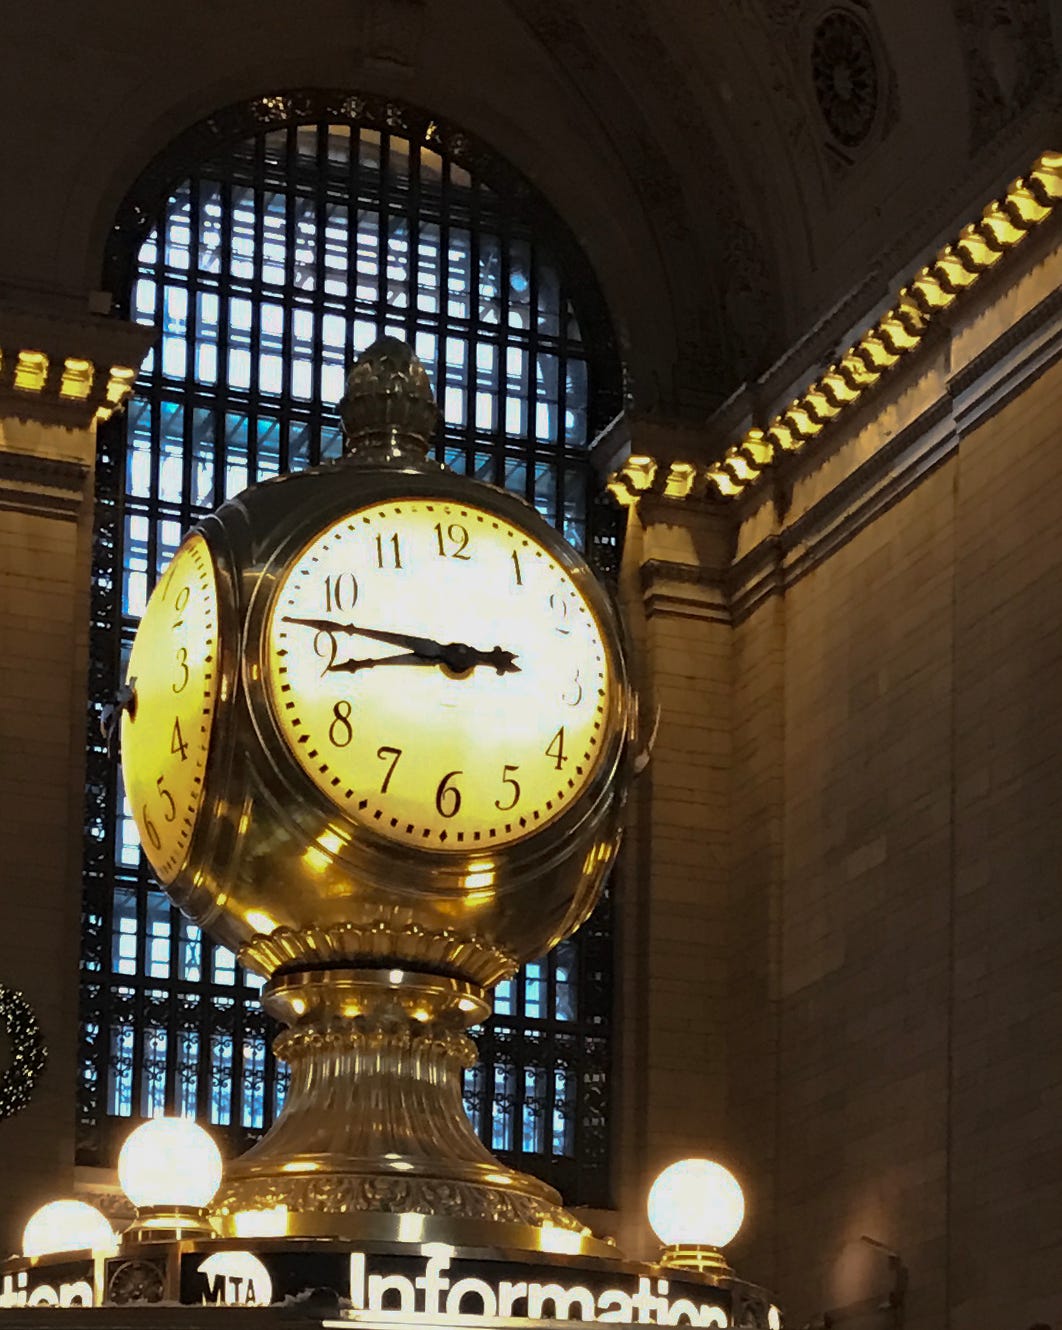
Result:
[[[0,1119],[0,1256],[75,1190],[96,422],[153,335],[0,301],[0,984],[48,1047],[28,1107]]]

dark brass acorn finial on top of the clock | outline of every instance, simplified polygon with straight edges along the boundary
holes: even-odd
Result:
[[[422,462],[435,428],[435,398],[413,347],[378,338],[354,362],[339,400],[343,456]]]

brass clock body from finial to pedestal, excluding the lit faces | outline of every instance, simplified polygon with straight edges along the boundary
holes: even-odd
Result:
[[[290,1027],[275,1044],[291,1069],[285,1107],[226,1169],[216,1218],[232,1234],[241,1212],[279,1209],[289,1233],[375,1240],[417,1214],[422,1241],[550,1250],[563,1229],[566,1250],[602,1254],[551,1188],[475,1137],[460,1076],[475,1061],[464,1029],[490,1013],[488,991],[579,927],[615,858],[635,725],[620,625],[587,564],[532,508],[427,459],[434,404],[409,347],[370,347],[341,412],[341,462],[252,487],[192,537],[213,571],[218,677],[198,815],[165,884],[269,980],[264,1005]],[[570,609],[592,625],[584,642],[599,693],[580,732],[592,759],[570,797],[539,801],[539,819],[502,843],[381,833],[297,755],[282,720],[273,653],[289,575],[341,520],[403,501],[468,505],[483,524],[526,533],[528,557],[540,551]],[[474,628],[466,614],[466,634]],[[287,645],[311,649],[302,644],[294,634]],[[136,724],[126,717],[124,733]],[[138,769],[140,787],[156,775]]]

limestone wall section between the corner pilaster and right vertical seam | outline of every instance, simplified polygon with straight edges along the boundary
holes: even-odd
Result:
[[[848,1245],[870,1237],[920,1266],[926,1325],[946,1226],[950,471],[787,595],[776,952],[777,1279],[796,1306],[845,1305]]]

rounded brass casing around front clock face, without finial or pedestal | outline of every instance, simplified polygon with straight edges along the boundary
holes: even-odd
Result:
[[[496,849],[402,846],[357,825],[290,753],[266,685],[267,617],[289,563],[345,515],[402,497],[472,501],[550,548],[602,625],[610,654],[600,755],[579,798],[539,831]],[[220,708],[230,753],[221,834],[169,890],[260,974],[369,958],[427,966],[491,987],[583,922],[612,862],[632,704],[612,606],[578,556],[514,496],[450,472],[345,467],[246,491],[202,524],[238,569],[242,678]],[[480,666],[482,668],[482,666]],[[196,846],[193,846],[194,851]]]

